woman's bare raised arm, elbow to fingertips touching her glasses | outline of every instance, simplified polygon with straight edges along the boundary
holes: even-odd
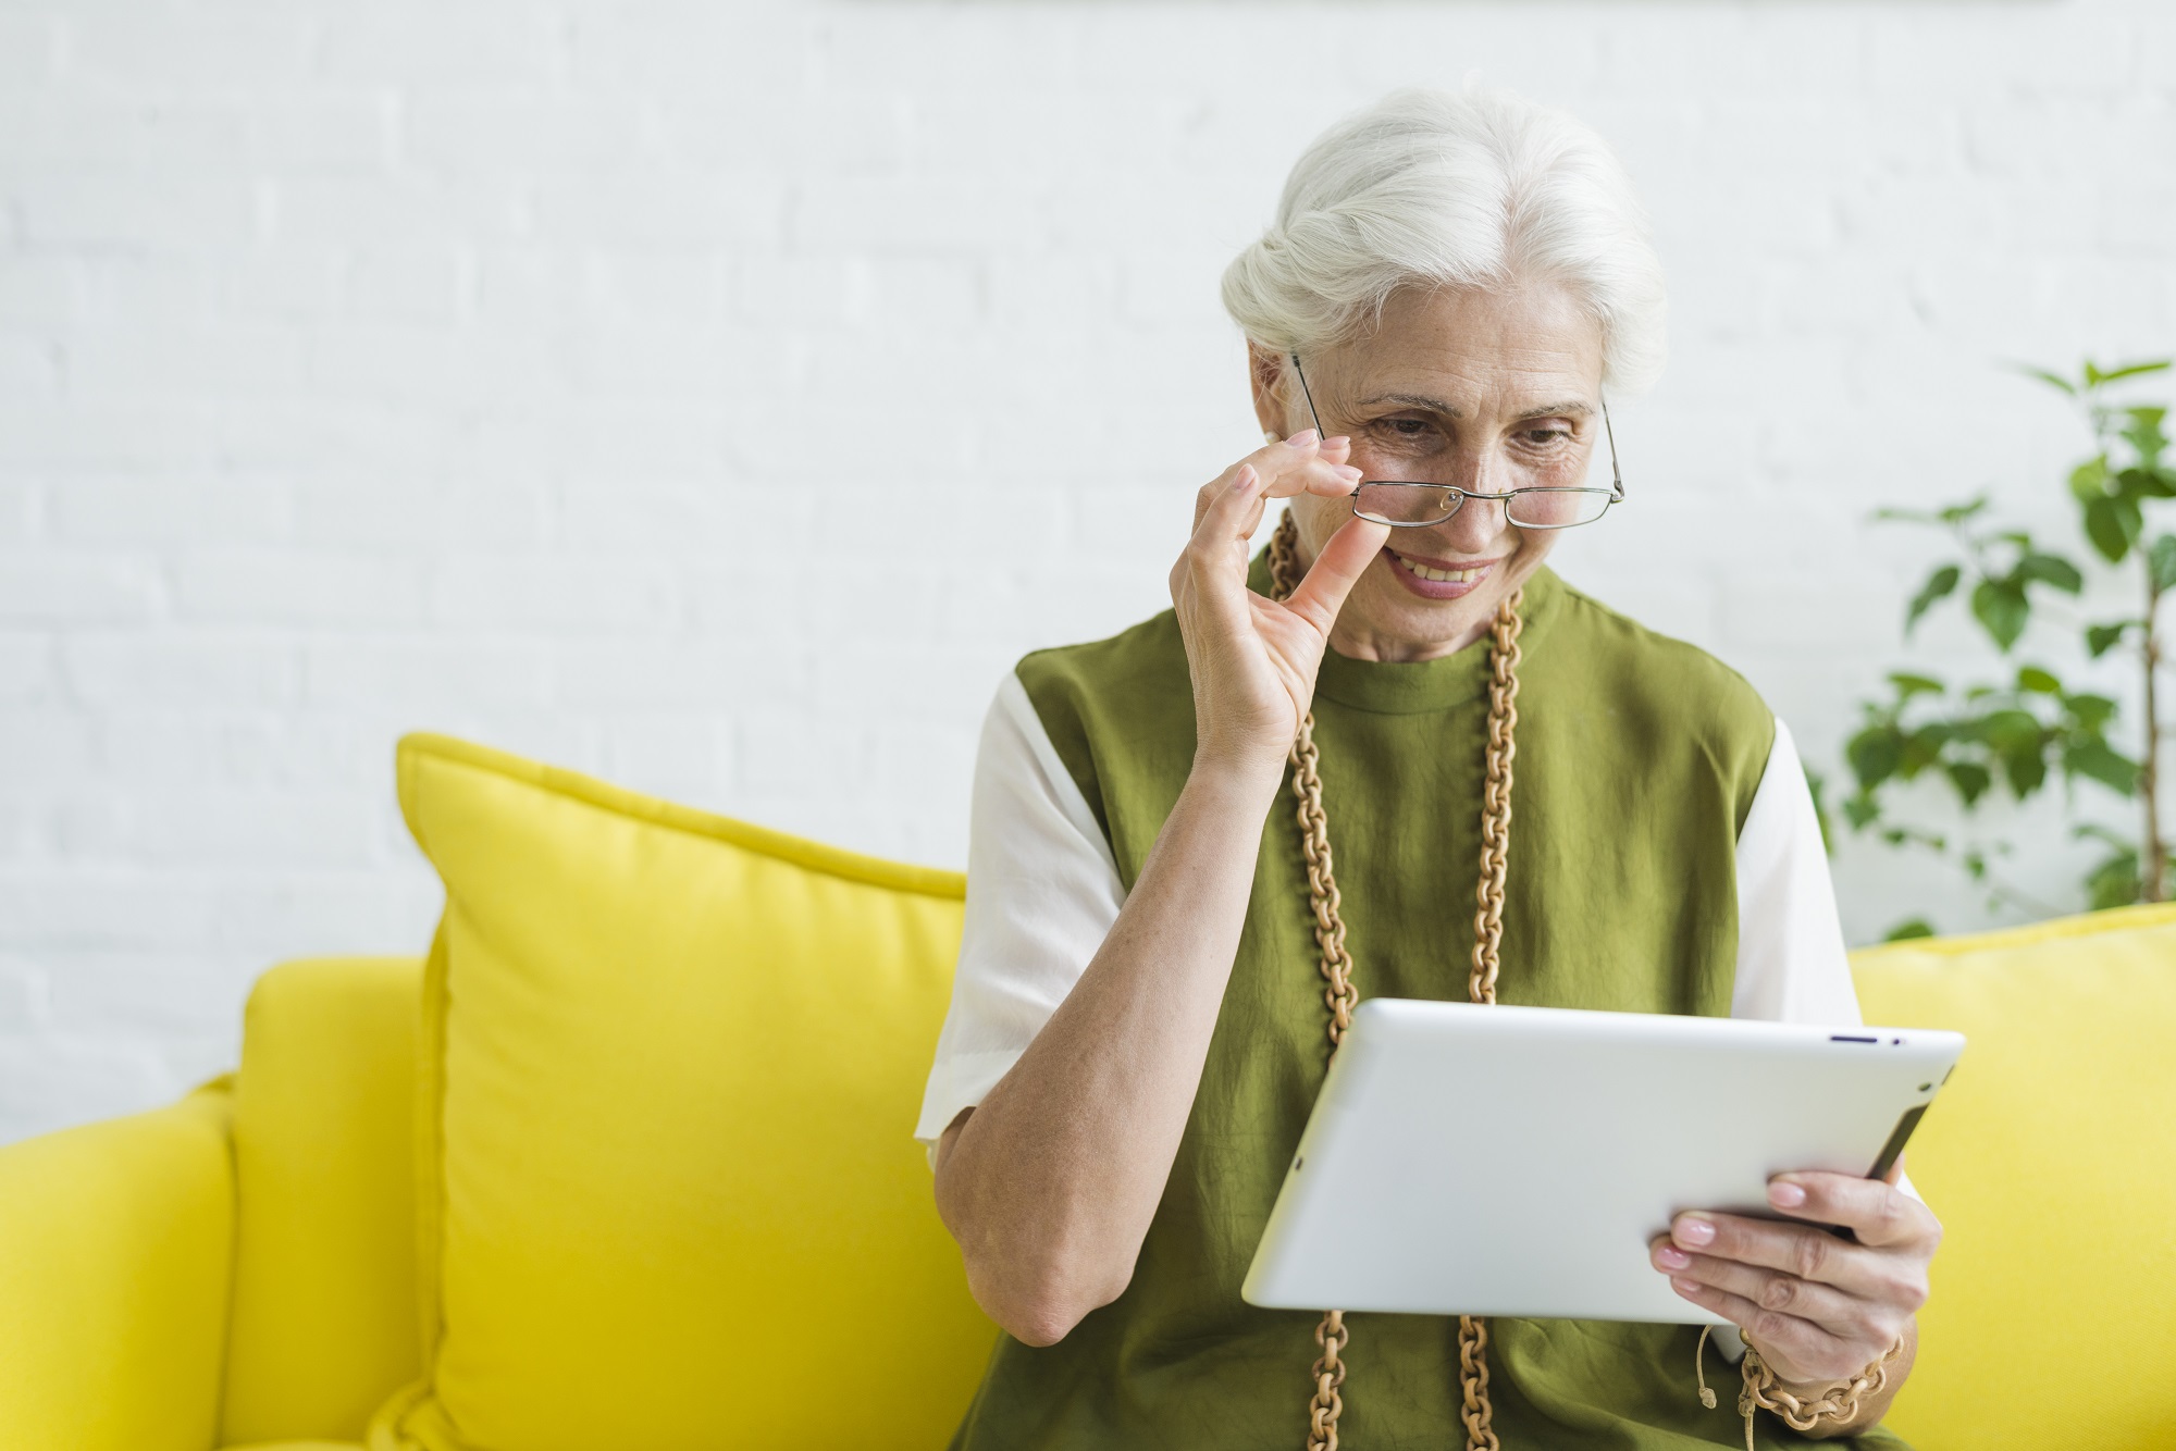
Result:
[[[1201,489],[1171,574],[1195,690],[1195,766],[1103,946],[1021,1062],[938,1140],[938,1214],[977,1303],[1062,1340],[1134,1275],[1192,1112],[1253,885],[1262,818],[1330,624],[1382,546],[1353,520],[1290,600],[1245,585],[1266,498],[1349,494],[1345,439],[1271,444]]]

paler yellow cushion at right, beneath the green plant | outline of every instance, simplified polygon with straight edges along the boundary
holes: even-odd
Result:
[[[1969,1044],[1913,1140],[1943,1218],[1919,1451],[2176,1447],[2176,907],[1854,959],[1867,1022]]]

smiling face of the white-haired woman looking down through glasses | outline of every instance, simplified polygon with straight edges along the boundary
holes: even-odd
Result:
[[[1602,326],[1556,285],[1399,292],[1373,335],[1299,365],[1323,433],[1351,437],[1367,479],[1473,494],[1578,485],[1602,437]],[[1314,426],[1288,357],[1258,350],[1253,392],[1277,437]],[[1351,518],[1343,498],[1301,494],[1290,509],[1303,561]],[[1449,655],[1488,629],[1556,533],[1471,500],[1441,524],[1393,529],[1330,642],[1358,659]]]

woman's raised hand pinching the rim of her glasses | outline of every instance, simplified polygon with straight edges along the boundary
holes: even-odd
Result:
[[[1286,600],[1247,590],[1247,540],[1271,498],[1351,494],[1360,470],[1345,463],[1349,452],[1349,439],[1306,429],[1247,455],[1195,500],[1195,537],[1171,566],[1171,603],[1195,685],[1197,766],[1282,779],[1330,627],[1390,531],[1347,520]]]

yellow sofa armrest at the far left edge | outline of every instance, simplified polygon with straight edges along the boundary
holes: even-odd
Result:
[[[211,1451],[233,1242],[228,1079],[0,1146],[7,1444]]]

